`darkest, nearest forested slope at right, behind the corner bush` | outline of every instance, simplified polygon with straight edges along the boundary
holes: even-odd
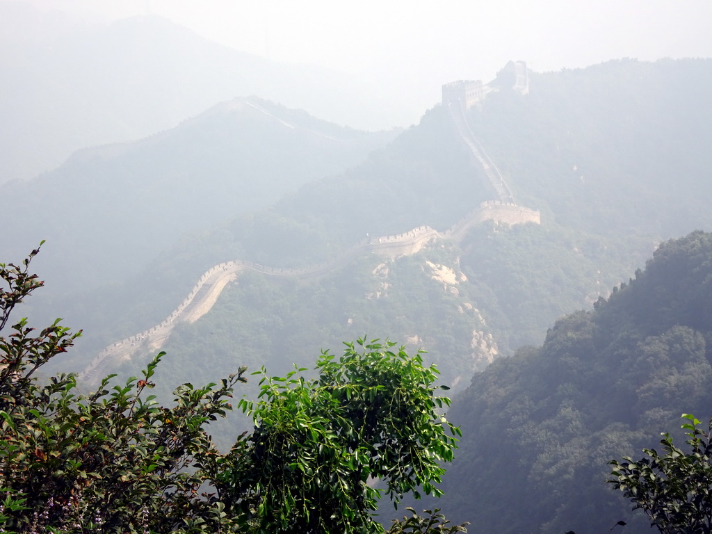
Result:
[[[711,281],[712,234],[667,241],[594,310],[477,373],[449,412],[464,437],[438,506],[473,533],[649,532],[604,483],[607,461],[682,413],[710,416]]]

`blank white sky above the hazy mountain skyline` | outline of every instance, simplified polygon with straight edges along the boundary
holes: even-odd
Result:
[[[423,109],[442,83],[489,81],[509,60],[542,72],[712,57],[712,0],[30,1],[111,18],[150,11],[240,51],[423,93]]]

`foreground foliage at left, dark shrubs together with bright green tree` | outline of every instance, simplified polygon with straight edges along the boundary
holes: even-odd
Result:
[[[43,283],[0,263],[0,331]],[[382,493],[436,488],[459,429],[441,415],[438,371],[392,342],[323,352],[315,379],[270,377],[239,407],[255,427],[222,454],[206,431],[225,417],[245,367],[204,387],[182,384],[172,407],[148,394],[163,353],[142,378],[81,392],[74,375],[36,372],[80,335],[57,320],[21,319],[0,336],[0,531],[16,533],[377,533]],[[447,389],[443,387],[443,389]],[[384,489],[379,489],[380,487]],[[393,532],[456,532],[438,511]],[[400,530],[399,530],[400,529]]]

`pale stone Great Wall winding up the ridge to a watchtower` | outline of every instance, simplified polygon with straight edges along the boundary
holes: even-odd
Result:
[[[519,72],[520,69],[518,69]],[[266,276],[317,277],[340,268],[347,261],[363,253],[378,253],[381,256],[397,258],[417,253],[432,239],[447,239],[459,243],[464,239],[468,229],[476,224],[481,224],[483,221],[499,221],[509,225],[540,224],[541,218],[538,210],[519,206],[513,202],[511,191],[501,173],[467,125],[466,110],[471,105],[478,103],[484,95],[483,90],[471,91],[473,87],[476,89],[481,88],[481,83],[459,81],[444,85],[443,105],[448,106],[459,136],[471,154],[473,164],[484,169],[487,180],[486,185],[491,187],[498,200],[482,202],[476,209],[444,232],[436,231],[429,226],[419,226],[403,234],[364,239],[348,248],[332,261],[303,268],[274,268],[244,260],[219,263],[211,267],[199,278],[182,303],[161,323],[105,347],[80,372],[78,379],[88,384],[94,384],[98,377],[103,375],[103,370],[108,365],[130,360],[139,350],[159,350],[177,323],[194,323],[208,313],[216,303],[222,290],[243,271],[255,271]],[[466,93],[468,90],[470,90],[470,94]],[[473,95],[472,93],[475,94]],[[261,108],[256,109],[261,110]],[[261,111],[268,114],[265,110]],[[271,114],[268,115],[273,117]],[[278,117],[274,117],[274,119],[283,122]]]

